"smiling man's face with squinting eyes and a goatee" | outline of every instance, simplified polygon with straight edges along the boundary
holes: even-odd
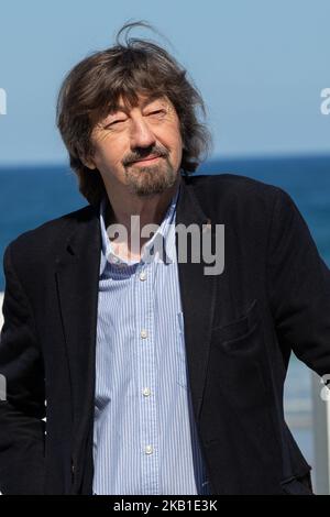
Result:
[[[178,176],[183,141],[176,110],[166,97],[139,96],[135,107],[119,99],[116,111],[92,130],[97,167],[106,186],[120,184],[147,196],[172,187]]]

